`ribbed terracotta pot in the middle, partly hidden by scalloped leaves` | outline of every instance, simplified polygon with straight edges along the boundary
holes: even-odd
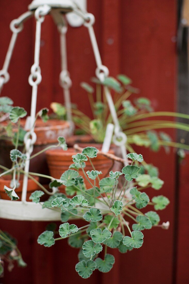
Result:
[[[97,149],[99,144],[87,144],[87,146],[93,146]],[[73,163],[72,155],[75,155],[77,152],[73,148],[68,148],[68,151],[62,151],[62,149],[53,149],[46,151],[47,164],[49,166],[50,174],[53,178],[59,179],[60,176],[68,170],[69,166]],[[113,150],[110,150],[109,153],[114,154]],[[92,159],[92,162],[95,166],[95,169],[102,171],[100,179],[109,176],[109,171],[112,168],[112,160],[106,158],[105,156],[98,154],[96,158]],[[86,162],[85,172],[93,170],[89,160]],[[82,170],[79,170],[79,174],[84,178],[87,188],[90,188],[91,185],[85,178]],[[93,183],[93,182],[92,182]],[[96,179],[96,185],[98,186],[98,179]]]

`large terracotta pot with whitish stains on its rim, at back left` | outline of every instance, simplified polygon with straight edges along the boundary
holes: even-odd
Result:
[[[21,120],[21,126],[24,128],[26,119]],[[6,124],[6,122],[4,122]],[[2,125],[2,124],[1,124]],[[70,124],[67,121],[61,120],[49,120],[46,123],[41,119],[37,119],[35,125],[35,133],[37,135],[37,140],[33,147],[33,153],[38,153],[39,151],[45,149],[46,147],[57,144],[58,136],[68,137]],[[0,164],[10,168],[12,162],[10,160],[10,150],[14,149],[14,146],[10,141],[1,140],[0,141]],[[23,147],[18,147],[20,151]],[[36,158],[30,161],[30,171],[37,172],[39,174],[49,174],[45,153],[40,154]],[[47,179],[40,178],[41,183],[49,182]]]

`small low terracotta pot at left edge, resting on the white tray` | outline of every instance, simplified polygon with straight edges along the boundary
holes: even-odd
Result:
[[[11,175],[5,175],[5,176],[2,176],[0,178],[0,197],[1,197],[1,199],[10,200],[8,195],[5,193],[4,185],[6,185],[7,187],[10,187],[11,179],[12,179]],[[38,177],[35,177],[35,179],[37,181],[39,181]],[[22,196],[22,185],[23,185],[23,176],[22,175],[20,176],[19,182],[20,182],[20,186],[15,189],[15,192],[20,197],[20,199],[18,199],[20,201],[21,196]],[[38,190],[38,189],[39,189],[39,186],[35,183],[35,181],[33,181],[32,179],[28,179],[28,189],[27,189],[26,201],[31,201],[29,199],[31,193],[34,192],[35,190]]]

